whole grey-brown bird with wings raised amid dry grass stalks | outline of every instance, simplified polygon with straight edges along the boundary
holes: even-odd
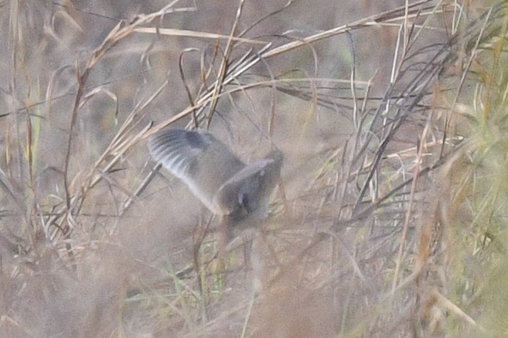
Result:
[[[152,135],[148,147],[157,163],[214,215],[226,219],[226,227],[268,217],[269,197],[281,175],[280,150],[246,164],[211,133],[176,128]]]

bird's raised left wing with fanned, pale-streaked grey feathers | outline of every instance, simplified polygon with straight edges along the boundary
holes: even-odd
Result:
[[[152,136],[148,145],[152,158],[189,186],[206,208],[224,214],[214,195],[245,168],[224,143],[209,133],[168,129]]]

